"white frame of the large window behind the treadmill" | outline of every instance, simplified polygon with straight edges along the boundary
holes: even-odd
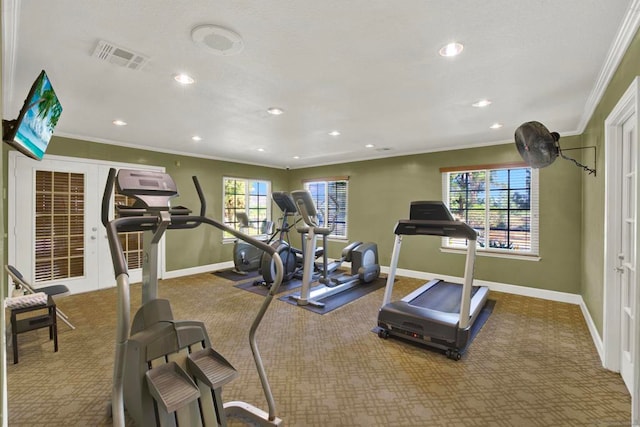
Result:
[[[447,207],[449,206],[449,197],[450,197],[450,175],[451,174],[460,174],[460,173],[468,173],[468,172],[485,172],[485,193],[487,195],[490,194],[492,188],[491,184],[491,172],[492,171],[504,171],[504,170],[515,170],[515,169],[529,169],[531,174],[531,182],[529,187],[529,210],[530,210],[530,223],[529,223],[529,233],[530,233],[530,246],[529,250],[517,250],[517,249],[508,249],[508,248],[495,248],[495,247],[482,247],[480,245],[480,239],[477,242],[476,250],[478,255],[483,256],[494,256],[494,257],[504,257],[504,258],[514,258],[514,259],[523,259],[523,260],[532,260],[538,261],[540,260],[540,224],[539,224],[539,212],[540,212],[540,176],[539,170],[528,166],[526,163],[508,163],[508,164],[492,164],[492,165],[478,165],[478,166],[464,166],[464,167],[453,167],[453,168],[441,168],[440,172],[442,175],[442,197],[445,201]],[[508,190],[511,190],[513,187],[508,187]],[[501,188],[500,190],[504,190]],[[489,196],[485,196],[489,197]],[[509,214],[511,210],[509,209],[507,213]],[[484,229],[488,230],[490,228],[490,206],[487,206],[485,199],[485,214],[484,214]],[[454,214],[454,212],[452,212]],[[454,216],[456,216],[454,214]],[[479,233],[480,231],[477,230]],[[443,252],[463,252],[467,248],[467,244],[465,242],[464,245],[461,244],[451,244],[450,239],[443,237],[441,239],[441,251]]]

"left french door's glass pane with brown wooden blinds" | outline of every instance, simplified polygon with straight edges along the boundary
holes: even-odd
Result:
[[[84,276],[84,179],[36,171],[36,282]]]

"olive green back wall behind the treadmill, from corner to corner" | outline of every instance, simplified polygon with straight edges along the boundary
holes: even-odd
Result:
[[[579,137],[562,138],[577,146]],[[349,176],[349,240],[378,244],[381,265],[389,265],[396,221],[408,218],[414,200],[442,200],[441,167],[520,161],[514,144],[452,150],[381,160],[296,169],[289,187],[302,180]],[[558,161],[540,170],[540,261],[479,256],[477,279],[578,293],[580,290],[580,219],[582,171]],[[407,237],[399,268],[461,277],[464,255],[440,251],[440,239]],[[330,242],[338,256],[343,242]]]

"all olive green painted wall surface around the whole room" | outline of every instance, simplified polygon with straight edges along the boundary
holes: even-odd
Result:
[[[570,162],[557,161],[540,171],[540,256],[524,261],[478,257],[476,277],[539,289],[579,293],[585,299],[597,328],[602,331],[603,222],[604,222],[604,120],[640,74],[640,37],[636,35],[583,135],[564,137],[564,148],[597,146],[598,176],[582,172]],[[1,75],[0,75],[1,76]],[[1,95],[1,93],[0,93]],[[531,120],[535,118],[523,118]],[[7,151],[3,147],[2,180],[6,188]],[[225,175],[271,180],[273,190],[292,190],[308,178],[349,176],[349,239],[378,243],[380,262],[388,265],[395,222],[407,217],[409,203],[440,199],[439,168],[518,161],[512,144],[484,148],[393,157],[380,160],[285,171],[241,163],[200,159],[150,150],[54,137],[49,154],[115,162],[164,166],[181,191],[176,204],[196,206],[192,175],[200,179],[208,200],[207,213],[222,216],[222,177]],[[589,163],[589,159],[585,159]],[[6,222],[6,204],[2,207]],[[209,227],[208,227],[209,228]],[[167,270],[180,270],[232,259],[232,245],[220,245],[221,233],[205,228],[167,236]],[[188,241],[188,250],[183,242]],[[6,242],[0,245],[6,261]],[[337,256],[344,242],[330,242]],[[400,268],[460,276],[464,256],[442,253],[438,239],[407,238]],[[2,286],[4,289],[4,286]]]

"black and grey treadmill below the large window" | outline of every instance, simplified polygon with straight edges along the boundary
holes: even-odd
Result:
[[[453,360],[460,360],[471,336],[471,328],[489,294],[486,286],[473,286],[476,231],[456,221],[442,201],[412,202],[410,219],[398,221],[384,300],[378,313],[380,338],[401,338],[437,348]],[[435,279],[400,301],[391,301],[402,238],[437,236],[469,241],[464,283]]]

